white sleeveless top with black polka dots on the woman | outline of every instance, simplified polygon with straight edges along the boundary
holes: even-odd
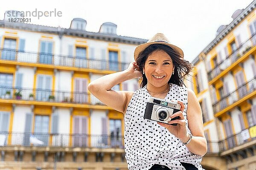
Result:
[[[186,88],[172,84],[165,100],[184,103],[183,115],[190,132],[186,118],[187,94]],[[154,164],[162,164],[173,170],[185,170],[180,162],[186,162],[204,170],[200,164],[202,156],[191,153],[180,139],[156,121],[143,119],[149,97],[151,95],[145,85],[134,92],[125,112],[125,159],[128,169],[149,170]]]

